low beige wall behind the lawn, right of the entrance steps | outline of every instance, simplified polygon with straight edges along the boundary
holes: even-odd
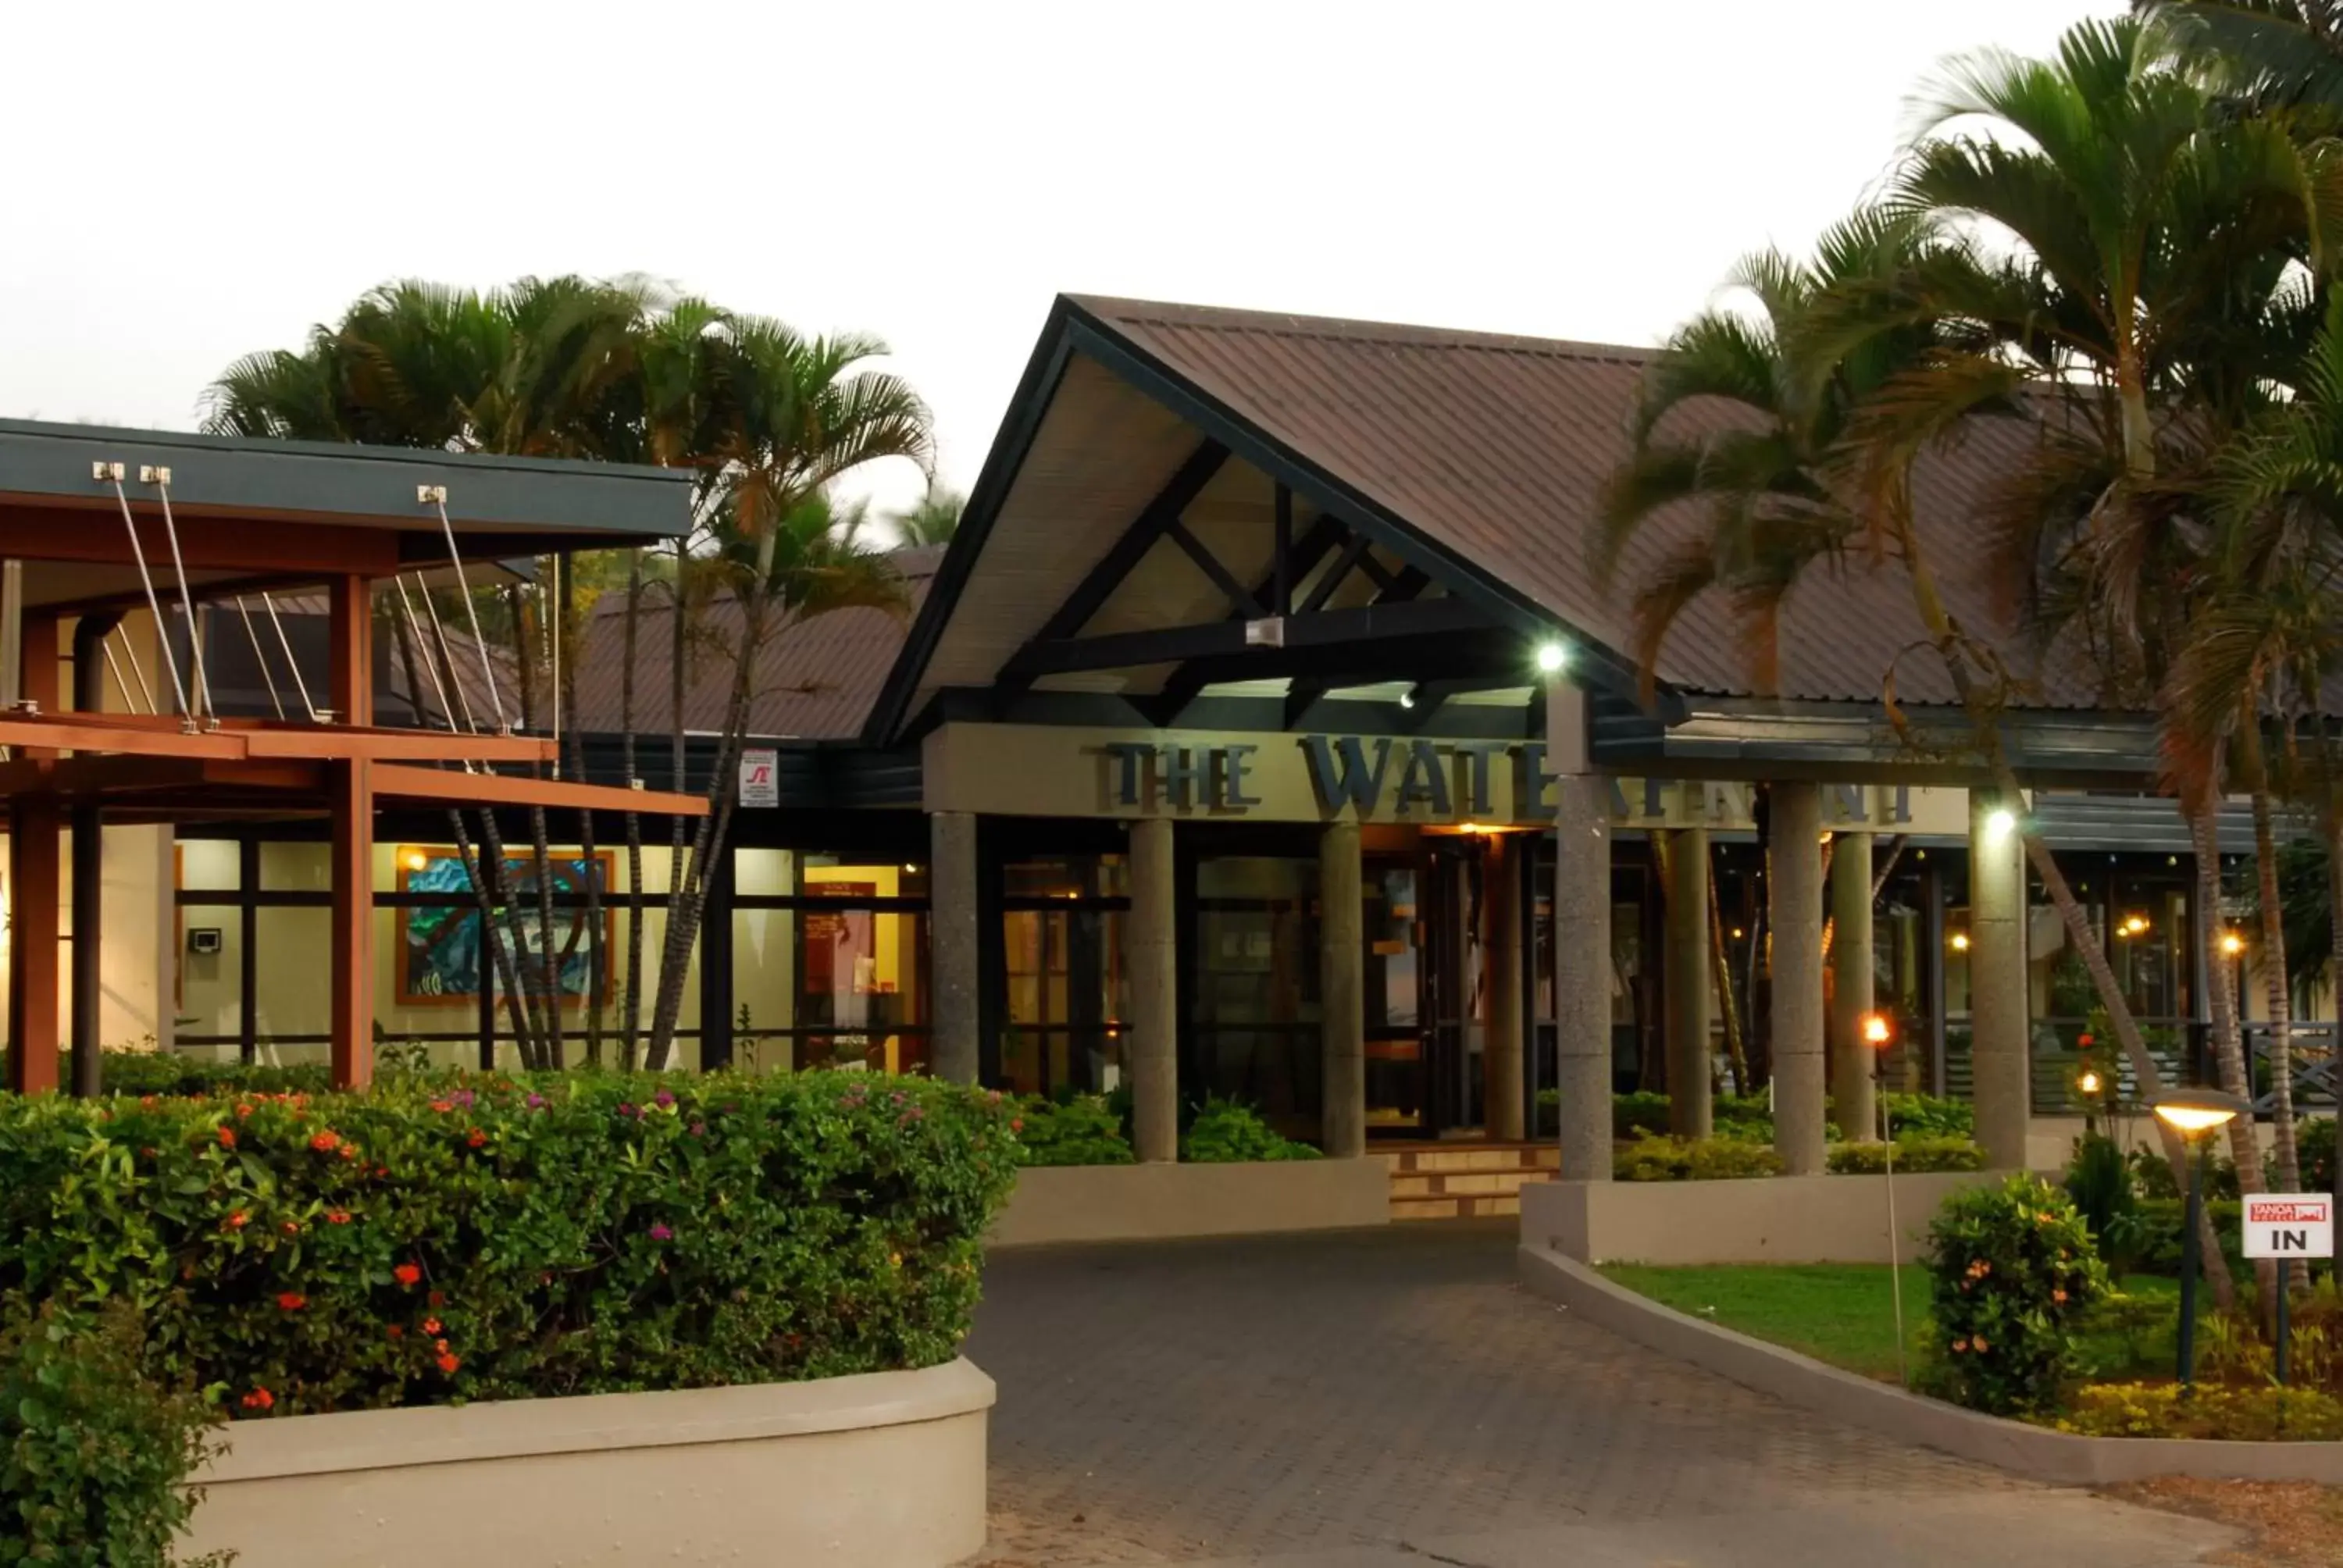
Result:
[[[1895,1177],[1895,1261],[1919,1256],[1949,1193],[1994,1179]],[[1884,1263],[1886,1179],[1546,1181],[1521,1188],[1521,1245],[1584,1263]]]

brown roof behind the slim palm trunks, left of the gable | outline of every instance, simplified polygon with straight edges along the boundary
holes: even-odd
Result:
[[[893,563],[918,612],[944,546],[895,551]],[[649,593],[642,602],[635,649],[635,734],[658,736],[670,729],[668,647],[672,609],[665,595]],[[705,612],[715,635],[733,640],[740,612],[731,600],[717,600]],[[604,593],[581,638],[576,668],[576,713],[569,717],[588,731],[619,731],[619,696],[626,656],[626,593]],[[757,687],[750,701],[750,734],[776,738],[836,741],[860,734],[862,717],[902,649],[904,621],[883,609],[836,609],[792,621],[766,640],[757,661]],[[698,649],[684,661],[684,729],[715,731],[724,724],[731,661]]]

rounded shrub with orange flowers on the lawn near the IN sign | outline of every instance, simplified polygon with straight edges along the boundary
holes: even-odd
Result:
[[[2074,1200],[2031,1174],[1954,1193],[1928,1226],[1928,1275],[1933,1390],[1994,1416],[2050,1406],[2106,1294]]]

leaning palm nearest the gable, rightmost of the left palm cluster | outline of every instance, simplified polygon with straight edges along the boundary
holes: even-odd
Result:
[[[738,605],[740,640],[710,780],[715,811],[694,832],[689,872],[668,909],[651,1010],[654,1062],[672,1050],[708,867],[724,851],[759,652],[792,616],[860,602],[904,605],[883,558],[836,539],[827,506],[808,511],[808,502],[862,464],[933,462],[928,405],[902,377],[865,368],[881,354],[886,345],[876,338],[804,338],[778,321],[743,316],[731,321],[715,356],[717,408],[694,462],[710,476],[715,504],[705,534]],[[818,525],[808,523],[815,516]]]

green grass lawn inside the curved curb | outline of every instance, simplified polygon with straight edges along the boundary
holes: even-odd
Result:
[[[1928,1273],[1905,1266],[1905,1341],[1919,1364],[1928,1324]],[[1774,1341],[1818,1362],[1895,1380],[1895,1308],[1886,1263],[1734,1263],[1715,1268],[1649,1268],[1607,1263],[1603,1277],[1664,1305]],[[2123,1289],[2139,1298],[2179,1303],[2179,1282],[2132,1275]],[[2172,1327],[2149,1329],[2127,1343],[2095,1336],[2085,1357],[2099,1378],[2134,1371],[2156,1376],[2172,1366]]]

